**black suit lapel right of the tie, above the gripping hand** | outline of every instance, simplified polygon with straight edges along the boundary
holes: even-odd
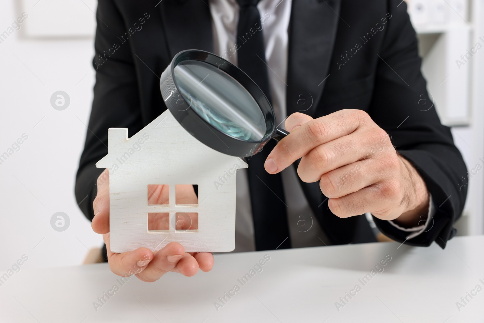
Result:
[[[328,76],[341,0],[293,0],[287,62],[287,115],[314,116]]]

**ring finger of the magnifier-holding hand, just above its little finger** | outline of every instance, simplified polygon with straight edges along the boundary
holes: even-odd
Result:
[[[387,174],[384,169],[372,165],[375,163],[372,159],[364,159],[329,171],[321,176],[319,188],[324,196],[337,199],[378,183]]]

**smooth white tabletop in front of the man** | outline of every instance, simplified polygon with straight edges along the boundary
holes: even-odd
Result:
[[[124,285],[104,264],[22,269],[0,286],[0,322],[484,322],[484,290],[456,306],[476,285],[484,288],[483,249],[484,236],[473,236],[445,250],[373,243],[218,254],[210,273],[169,273],[155,283],[132,277]],[[242,285],[238,279],[266,254],[262,272]],[[363,285],[359,279],[386,255],[384,271]],[[217,311],[214,302],[236,284]],[[338,310],[335,302],[343,305],[340,297],[357,284],[361,290]],[[96,311],[93,302],[113,285],[119,290]]]

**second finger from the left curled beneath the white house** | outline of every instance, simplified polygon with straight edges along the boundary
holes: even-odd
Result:
[[[158,280],[167,272],[173,270],[184,256],[185,249],[183,246],[178,242],[170,242],[155,253],[148,267],[137,274],[136,277],[147,282]]]

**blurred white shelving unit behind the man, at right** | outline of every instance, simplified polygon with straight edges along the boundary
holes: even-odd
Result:
[[[484,54],[473,49],[476,43],[484,45],[479,38],[484,35],[484,0],[406,1],[429,96],[442,123],[454,127],[454,141],[473,169],[484,156]],[[473,176],[468,189],[465,215],[456,226],[461,233],[483,234],[484,176]]]

